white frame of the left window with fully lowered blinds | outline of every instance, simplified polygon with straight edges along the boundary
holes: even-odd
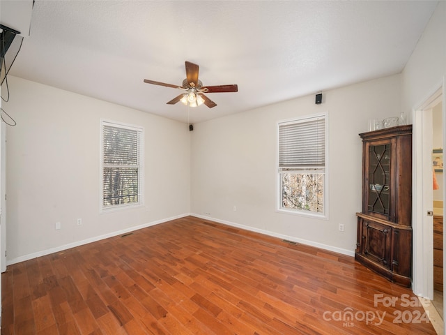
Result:
[[[112,206],[104,205],[104,128],[105,126],[112,126],[115,128],[129,129],[137,131],[139,135],[139,152],[138,152],[138,202],[130,204],[115,204]],[[127,165],[130,166],[130,165]],[[125,124],[119,121],[112,121],[107,119],[100,119],[100,157],[99,157],[99,184],[100,184],[100,198],[99,208],[100,213],[108,213],[110,211],[119,211],[123,209],[132,209],[144,205],[144,128],[132,124]]]

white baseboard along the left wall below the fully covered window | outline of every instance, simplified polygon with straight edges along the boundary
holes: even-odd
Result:
[[[130,227],[130,228],[125,228],[123,230],[118,230],[116,232],[109,232],[107,234],[102,234],[96,237],[91,237],[89,239],[83,239],[82,241],[75,241],[69,244],[64,244],[63,246],[56,246],[55,248],[49,248],[43,251],[37,251],[36,253],[29,253],[28,255],[23,255],[17,258],[13,258],[12,260],[8,260],[8,265],[13,265],[15,263],[19,263],[19,262],[24,262],[26,260],[31,260],[33,258],[37,258],[40,256],[45,256],[45,255],[49,255],[51,253],[58,253],[59,251],[64,251],[70,248],[75,248],[77,246],[82,246],[84,244],[89,244],[95,241],[100,241],[102,239],[108,239],[109,237],[115,237],[121,234],[125,234],[128,232],[134,232],[135,230],[139,230],[139,229],[143,229],[143,228],[147,228],[147,227],[151,227],[152,225],[159,225],[160,223],[164,223],[167,221],[172,221],[172,220],[176,220],[178,218],[184,218],[186,216],[190,216],[189,213],[186,214],[180,214],[180,215],[176,215],[176,216],[171,216],[170,218],[163,218],[161,220],[157,220],[157,221],[152,221],[149,223],[144,223],[143,225],[137,225],[134,227]]]

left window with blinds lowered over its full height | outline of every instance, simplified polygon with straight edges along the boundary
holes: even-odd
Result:
[[[142,203],[141,143],[143,130],[101,122],[102,209]]]

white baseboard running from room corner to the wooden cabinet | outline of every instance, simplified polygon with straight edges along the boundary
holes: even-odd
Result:
[[[289,235],[284,235],[284,234],[279,234],[277,232],[271,232],[270,230],[263,230],[263,229],[259,229],[259,228],[254,228],[254,227],[249,227],[249,225],[240,225],[238,223],[233,223],[230,221],[224,221],[224,220],[220,220],[218,218],[211,218],[210,216],[203,216],[200,214],[194,214],[191,213],[191,216],[195,216],[197,218],[203,218],[205,220],[210,220],[210,221],[215,221],[217,223],[222,223],[224,225],[231,225],[232,227],[236,227],[236,228],[240,228],[240,229],[244,229],[244,230],[249,230],[251,232],[259,232],[261,234],[266,234],[272,237],[278,237],[279,239],[286,239],[287,241],[293,241],[293,242],[297,242],[300,244],[305,244],[307,246],[314,246],[315,248],[321,248],[327,251],[332,251],[334,253],[341,253],[342,255],[348,255],[348,256],[355,256],[355,251],[354,250],[347,250],[347,249],[343,249],[343,248],[337,248],[336,246],[328,246],[327,244],[322,244],[322,243],[318,243],[315,241],[308,241],[307,239],[299,239],[298,237],[293,237],[293,236],[289,236]]]

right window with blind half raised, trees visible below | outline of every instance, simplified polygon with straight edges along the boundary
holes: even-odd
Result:
[[[325,119],[279,122],[279,210],[325,217]]]

